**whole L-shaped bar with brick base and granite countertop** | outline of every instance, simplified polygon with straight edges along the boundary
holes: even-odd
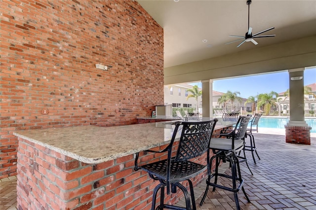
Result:
[[[173,122],[14,132],[19,139],[17,208],[150,209],[152,189],[157,183],[146,173],[133,170],[134,154],[168,144]],[[215,130],[234,123],[219,119]],[[153,158],[159,157],[143,153],[141,161]],[[194,183],[204,177],[201,175]],[[166,199],[175,203],[180,197]]]

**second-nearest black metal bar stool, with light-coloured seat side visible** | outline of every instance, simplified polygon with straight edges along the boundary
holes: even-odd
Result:
[[[239,116],[237,126],[230,134],[231,139],[223,139],[223,138],[212,138],[210,141],[210,149],[213,151],[214,156],[208,162],[207,173],[208,177],[206,180],[206,189],[202,200],[200,202],[200,206],[202,206],[209,186],[213,186],[213,191],[218,187],[220,189],[228,190],[234,192],[235,203],[237,210],[240,210],[239,202],[238,202],[238,191],[241,189],[243,194],[245,195],[247,201],[250,203],[250,200],[243,188],[244,180],[241,178],[240,167],[239,167],[239,157],[237,153],[243,150],[244,147],[244,138],[246,135],[247,126],[249,123],[250,116]],[[212,174],[212,161],[215,159],[215,172]],[[228,160],[231,165],[232,175],[220,174],[218,172],[218,167],[220,165],[221,160]],[[232,180],[232,185],[225,186],[217,183],[218,176],[226,177]],[[211,178],[215,177],[214,182],[211,182]],[[239,182],[239,183],[238,183]],[[237,185],[238,184],[238,185]]]

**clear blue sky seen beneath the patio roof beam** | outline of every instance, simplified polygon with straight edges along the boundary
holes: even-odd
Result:
[[[316,68],[304,70],[304,86],[316,83]],[[201,82],[192,83],[202,87]],[[231,79],[213,80],[213,90],[226,93],[227,91],[238,91],[239,97],[247,99],[249,96],[256,97],[261,93],[285,92],[289,89],[288,71],[261,74],[255,76],[244,76]]]

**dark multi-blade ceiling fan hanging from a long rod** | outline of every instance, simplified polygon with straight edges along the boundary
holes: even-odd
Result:
[[[232,36],[232,37],[241,37],[240,39],[237,39],[235,41],[240,41],[240,40],[243,40],[240,44],[238,44],[237,47],[239,47],[241,44],[243,44],[245,41],[251,41],[252,43],[254,43],[255,45],[258,44],[258,42],[256,42],[253,38],[260,38],[260,37],[272,37],[272,36],[275,36],[275,35],[260,35],[262,33],[265,33],[265,32],[268,32],[272,29],[274,29],[275,27],[272,27],[270,29],[266,29],[262,32],[259,32],[257,34],[254,34],[252,35],[252,27],[249,27],[249,10],[250,10],[250,4],[251,4],[251,0],[247,0],[247,5],[248,5],[248,31],[246,32],[245,36],[240,36],[240,35],[229,35],[229,36]],[[231,41],[231,42],[228,42],[226,44],[230,44],[230,43],[233,43],[235,41]]]

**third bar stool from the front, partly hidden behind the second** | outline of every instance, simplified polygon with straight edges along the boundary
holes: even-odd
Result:
[[[255,116],[253,116],[252,120],[250,121],[250,128],[249,129],[247,128],[247,134],[246,134],[246,137],[249,136],[250,146],[247,145],[247,144],[245,144],[245,146],[244,146],[244,150],[251,151],[252,159],[253,159],[254,164],[257,164],[257,163],[256,163],[255,156],[254,156],[253,152],[256,152],[259,160],[260,160],[260,157],[259,157],[258,152],[257,152],[257,147],[256,147],[256,144],[255,144],[255,138],[252,135],[252,132],[253,131],[257,131],[257,133],[258,133],[258,123],[259,123],[259,120],[260,120],[261,116],[262,116],[262,114],[255,114]]]

